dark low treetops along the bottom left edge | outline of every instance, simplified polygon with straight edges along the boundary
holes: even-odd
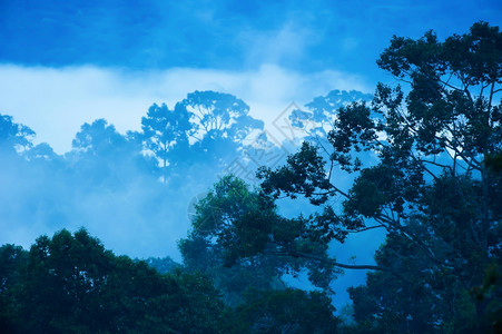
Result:
[[[29,252],[0,247],[0,283],[2,333],[336,333],[338,324],[324,293],[244,284],[229,308],[207,275],[159,274],[85,229],[41,236]]]

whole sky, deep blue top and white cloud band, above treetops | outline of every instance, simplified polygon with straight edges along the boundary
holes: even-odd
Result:
[[[152,102],[236,95],[273,119],[332,89],[391,81],[375,60],[393,35],[440,38],[501,1],[0,0],[0,114],[70,149],[85,121],[137,129]]]

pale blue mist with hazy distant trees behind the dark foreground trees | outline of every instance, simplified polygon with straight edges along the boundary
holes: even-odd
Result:
[[[190,109],[186,107],[187,98],[177,102],[173,110],[166,105],[154,104],[142,115],[142,125],[132,127],[140,131],[120,134],[102,118],[81,125],[73,137],[72,149],[65,155],[56,154],[48,144],[33,145],[37,138],[35,131],[30,132],[23,145],[14,140],[16,136],[22,137],[21,134],[11,138],[6,132],[4,145],[9,149],[2,157],[7,165],[0,179],[0,196],[3,199],[0,204],[1,227],[4,230],[0,243],[29,247],[39,235],[85,227],[117,254],[135,258],[167,256],[181,263],[178,240],[190,230],[194,205],[214,183],[224,175],[234,174],[257,186],[259,180],[255,173],[258,167],[278,167],[304,139],[314,140],[309,136],[316,131],[315,127],[323,127],[325,119],[319,115],[315,119],[307,114],[314,112],[316,106],[325,108],[322,101],[329,100],[331,109],[336,109],[352,101],[371,99],[371,95],[362,92],[332,91],[326,97],[314,99],[311,109],[295,109],[297,105],[286,108],[276,117],[275,124],[269,124],[269,127],[275,127],[272,132],[265,128],[264,121],[250,116],[249,107],[237,97],[215,91],[196,91],[194,95],[199,107],[208,108],[210,114],[206,116],[210,117],[218,115],[217,110],[211,109],[215,106],[218,108],[218,100],[240,101],[239,107],[230,104],[242,112],[240,118],[238,121],[227,121],[226,127],[197,134],[197,129],[201,128],[199,119],[194,118],[186,128],[174,120],[171,122],[178,129],[161,125],[169,117],[179,118],[175,115]],[[227,116],[233,114],[222,107],[219,111]],[[308,128],[294,126],[298,111],[311,119]],[[148,129],[149,112],[150,119],[157,124],[160,121],[157,129]],[[325,112],[325,116],[329,115],[329,110]],[[18,130],[24,127],[16,119],[7,119],[6,130],[9,127]],[[234,116],[234,119],[237,118]],[[151,125],[155,126],[155,122]],[[167,130],[164,139],[163,135],[158,136],[161,127]],[[233,127],[240,128],[237,137],[238,131],[230,130]],[[177,139],[169,131],[179,132]],[[181,143],[183,138],[188,137],[193,140]],[[156,150],[156,145],[163,140],[167,149],[157,147]],[[166,159],[166,166],[163,159]],[[348,188],[352,181],[351,178],[344,180],[344,187]],[[308,214],[311,209],[307,203],[298,206],[298,203],[286,200],[279,203],[279,210],[293,217]],[[357,253],[358,261],[372,263],[372,254],[382,236],[370,235],[373,242],[372,246],[365,243],[364,254],[367,255],[361,254],[358,242],[337,245],[333,252],[343,259]],[[293,286],[311,286],[302,278],[286,281]],[[364,273],[343,276],[342,283],[334,285],[339,294],[336,305],[346,303],[346,286],[363,281]]]

